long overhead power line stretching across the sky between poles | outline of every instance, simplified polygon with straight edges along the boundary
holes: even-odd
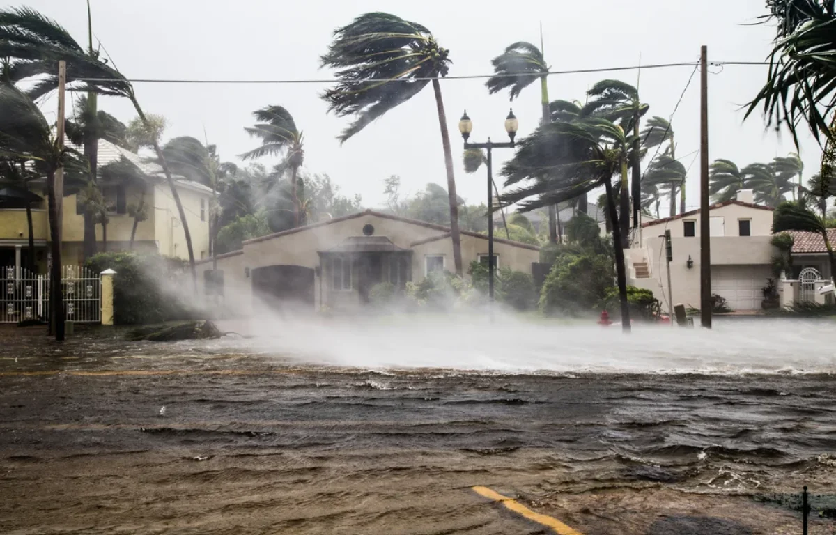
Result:
[[[712,61],[711,67],[722,67],[724,65],[768,65],[767,62],[756,61]],[[630,65],[627,67],[602,67],[598,69],[571,69],[552,70],[548,74],[587,74],[605,73],[621,70],[646,70],[646,69],[667,69],[670,67],[695,67],[699,62],[685,62],[676,64],[651,64],[651,65]],[[504,78],[516,76],[516,74],[464,74],[461,76],[445,76],[443,80],[466,80],[466,79],[487,79]],[[401,79],[368,79],[369,82],[416,82],[430,81],[435,78],[401,78]],[[81,82],[110,82],[108,78],[79,78]],[[127,80],[130,83],[143,84],[337,84],[339,79],[163,79],[163,78],[132,78]]]

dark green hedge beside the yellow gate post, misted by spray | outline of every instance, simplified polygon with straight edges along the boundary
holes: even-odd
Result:
[[[86,262],[96,273],[113,269],[114,321],[116,324],[159,324],[195,316],[172,288],[188,274],[186,261],[154,253],[100,252]],[[168,287],[168,288],[166,288]],[[191,288],[191,280],[189,281]]]

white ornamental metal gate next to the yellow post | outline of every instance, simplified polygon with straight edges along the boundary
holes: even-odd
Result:
[[[0,268],[0,324],[26,320],[48,321],[49,277],[26,268]],[[64,317],[75,323],[101,322],[101,278],[80,266],[64,266],[61,273]]]

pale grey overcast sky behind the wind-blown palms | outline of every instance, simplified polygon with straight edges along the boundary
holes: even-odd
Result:
[[[765,0],[704,0],[686,3],[641,0],[628,3],[543,2],[517,0],[479,3],[425,0],[392,3],[372,0],[334,2],[307,0],[92,0],[95,38],[129,78],[160,79],[329,79],[319,69],[334,28],[360,13],[390,11],[435,34],[451,50],[451,75],[491,74],[490,60],[516,41],[538,43],[543,23],[545,52],[553,70],[590,69],[639,64],[691,62],[700,46],[709,60],[760,61],[771,46],[772,28],[748,25],[766,12]],[[84,0],[29,0],[28,5],[55,18],[86,43]],[[701,6],[701,7],[700,7]],[[668,117],[691,75],[691,67],[643,70],[641,98],[650,115]],[[794,150],[786,133],[766,130],[761,117],[743,122],[746,104],[766,77],[761,66],[727,66],[709,78],[711,160],[726,158],[745,166],[769,161]],[[584,100],[600,79],[636,83],[637,71],[549,77],[551,99]],[[342,192],[363,196],[364,206],[380,206],[383,181],[399,175],[405,191],[420,191],[426,182],[446,186],[441,135],[430,86],[421,94],[369,125],[340,146],[335,136],[349,120],[326,114],[319,94],[327,84],[135,84],[145,112],[166,116],[168,137],[193,135],[216,144],[223,160],[257,146],[244,132],[253,110],[268,104],[286,107],[304,131],[309,172],[328,173]],[[509,104],[527,135],[539,119],[539,91],[529,86],[517,101],[507,94],[488,95],[484,80],[447,80],[441,84],[453,143],[456,186],[468,202],[485,200],[484,173],[466,175],[461,168],[457,123],[466,109],[474,122],[472,140],[504,140],[503,120]],[[134,117],[126,100],[101,99],[100,108],[125,122]],[[688,175],[687,205],[699,200],[699,74],[696,74],[673,118],[676,154]],[[54,103],[45,104],[52,110]],[[812,137],[803,139],[807,176],[816,172],[820,150]],[[497,150],[502,163],[510,150]],[[271,161],[264,161],[269,164]],[[274,163],[274,162],[273,162]],[[646,161],[645,161],[646,165]],[[665,202],[662,203],[666,205]],[[663,214],[664,215],[664,214]]]

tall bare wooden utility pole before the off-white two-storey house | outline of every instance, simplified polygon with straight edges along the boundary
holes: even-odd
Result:
[[[711,219],[708,213],[708,48],[700,54],[700,314],[711,329]]]

